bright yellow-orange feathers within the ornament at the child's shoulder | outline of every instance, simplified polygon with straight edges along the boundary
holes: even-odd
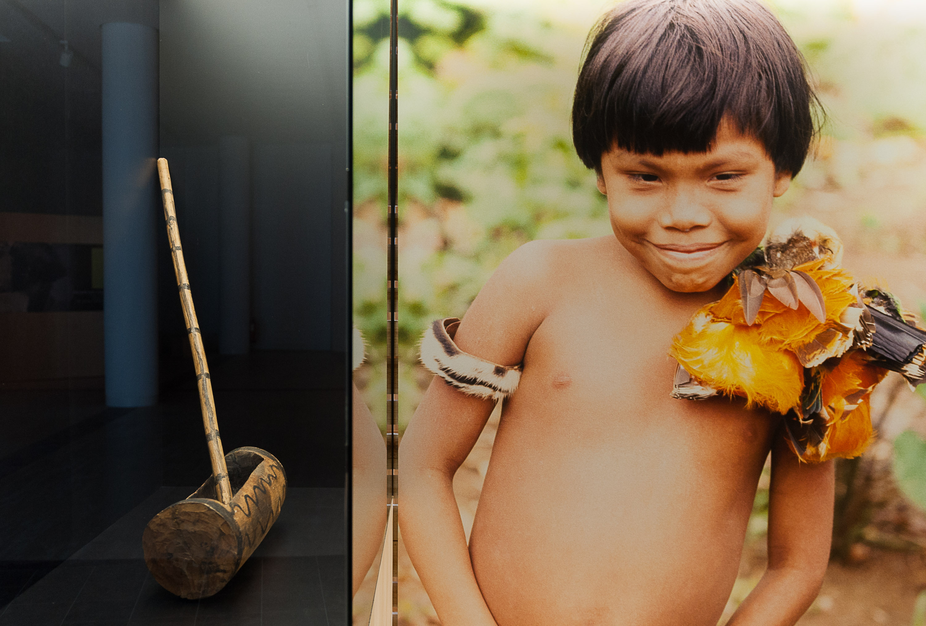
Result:
[[[807,346],[820,333],[832,329],[837,336],[820,337],[829,354],[843,354],[852,337],[839,323],[845,309],[856,301],[850,289],[854,279],[840,268],[830,268],[829,257],[798,265],[820,287],[826,320],[820,322],[804,305],[790,309],[766,294],[754,325],[746,325],[738,282],[734,280],[720,301],[694,314],[669,350],[682,367],[701,383],[728,396],[741,396],[747,406],[762,405],[787,413],[800,405],[804,368],[794,350]],[[737,279],[738,280],[738,279]],[[829,363],[829,362],[827,362]],[[825,365],[824,365],[825,367]],[[802,460],[821,462],[851,459],[868,447],[871,429],[869,397],[886,370],[870,363],[861,350],[850,350],[825,370],[821,399],[828,428],[819,446],[808,446]],[[865,392],[851,405],[846,397]],[[793,444],[788,445],[795,451]]]

